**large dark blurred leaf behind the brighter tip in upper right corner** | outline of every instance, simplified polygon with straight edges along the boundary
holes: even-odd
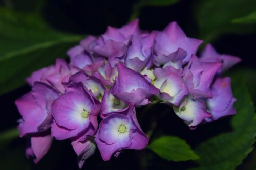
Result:
[[[253,33],[255,27],[233,25],[231,20],[255,10],[255,0],[207,0],[194,6],[199,37],[206,42],[215,40],[221,33]]]

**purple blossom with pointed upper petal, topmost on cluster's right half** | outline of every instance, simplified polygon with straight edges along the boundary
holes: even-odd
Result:
[[[177,22],[171,22],[162,31],[155,31],[156,45],[154,63],[156,66],[164,65],[169,61],[187,63],[192,54],[196,54],[201,40],[188,38]],[[180,63],[179,63],[180,62]]]

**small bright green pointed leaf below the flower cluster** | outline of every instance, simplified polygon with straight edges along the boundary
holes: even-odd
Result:
[[[168,161],[199,159],[199,157],[190,149],[189,145],[178,137],[162,136],[152,141],[147,148]]]

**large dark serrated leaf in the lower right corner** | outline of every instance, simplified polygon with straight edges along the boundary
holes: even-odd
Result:
[[[245,85],[241,79],[232,78],[232,88],[237,102],[237,114],[231,118],[232,130],[219,134],[200,144],[195,152],[201,157],[201,169],[236,169],[253,149],[256,136],[256,114]]]

